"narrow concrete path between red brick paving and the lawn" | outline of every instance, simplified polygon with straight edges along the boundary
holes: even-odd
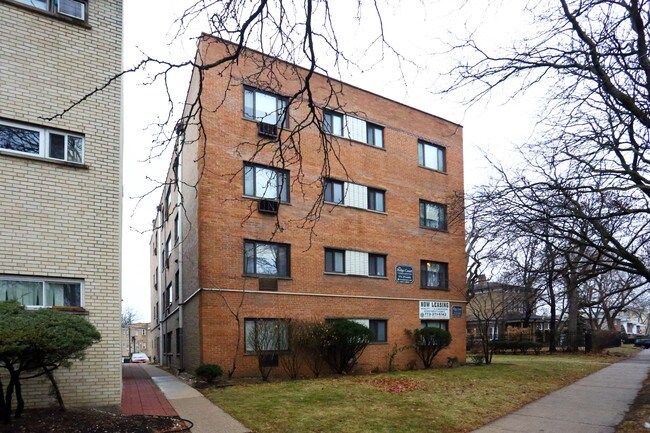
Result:
[[[194,423],[192,433],[249,433],[239,421],[211,403],[176,376],[153,365],[142,365],[178,416]]]

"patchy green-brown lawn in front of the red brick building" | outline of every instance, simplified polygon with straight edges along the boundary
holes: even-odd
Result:
[[[465,432],[619,359],[495,356],[491,366],[236,385],[206,395],[257,433]],[[389,391],[400,387],[407,391]]]

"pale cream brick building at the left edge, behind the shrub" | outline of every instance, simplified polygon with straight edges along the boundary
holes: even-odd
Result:
[[[120,72],[122,1],[0,0],[0,40],[0,299],[87,317],[101,342],[55,376],[66,406],[117,406],[121,85],[45,118]]]

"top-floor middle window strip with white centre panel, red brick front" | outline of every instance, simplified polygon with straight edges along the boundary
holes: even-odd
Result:
[[[349,114],[323,110],[323,131],[374,147],[384,147],[384,128]]]

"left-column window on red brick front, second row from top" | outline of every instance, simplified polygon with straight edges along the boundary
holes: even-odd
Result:
[[[289,172],[244,164],[244,195],[289,202]]]

